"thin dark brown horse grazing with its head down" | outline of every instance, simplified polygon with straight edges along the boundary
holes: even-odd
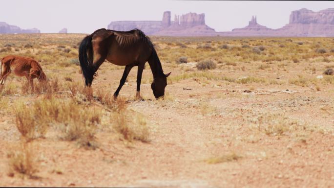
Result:
[[[115,98],[134,66],[138,66],[137,98],[141,98],[140,83],[146,61],[153,74],[151,88],[154,96],[159,98],[165,95],[170,72],[164,74],[152,42],[141,30],[113,31],[103,28],[84,38],[79,47],[79,60],[86,86],[91,86],[96,71],[105,59],[115,65],[125,66],[120,85],[114,94]]]

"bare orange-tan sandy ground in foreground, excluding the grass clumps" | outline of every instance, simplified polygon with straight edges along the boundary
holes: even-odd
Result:
[[[122,72],[101,73],[93,87],[114,91]],[[20,133],[14,116],[2,112],[0,186],[334,187],[333,91],[258,84],[248,93],[249,86],[203,86],[189,78],[167,86],[171,100],[151,100],[149,84],[142,84],[146,100],[134,101],[135,76],[134,69],[121,96],[147,118],[149,142],[125,143],[112,130],[101,129],[99,147],[86,150],[50,133],[33,141],[38,178],[9,177],[6,155]],[[203,109],[213,110],[205,114]],[[298,123],[292,121],[294,128],[283,134],[266,134],[258,121],[267,114]],[[238,158],[208,163],[232,154]]]

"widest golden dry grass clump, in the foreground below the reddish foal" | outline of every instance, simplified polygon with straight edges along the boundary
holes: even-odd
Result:
[[[26,107],[15,106],[16,124],[27,140],[45,135],[47,129],[57,125],[63,132],[63,140],[78,141],[81,146],[95,148],[94,134],[101,122],[100,111],[78,105],[75,101],[42,98]]]

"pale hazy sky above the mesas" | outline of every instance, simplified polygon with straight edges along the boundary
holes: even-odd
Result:
[[[23,29],[36,27],[55,33],[91,33],[111,21],[161,20],[174,15],[205,13],[206,24],[216,31],[244,27],[252,15],[257,23],[276,29],[289,23],[291,11],[334,8],[334,1],[181,1],[181,0],[0,0],[0,22]]]

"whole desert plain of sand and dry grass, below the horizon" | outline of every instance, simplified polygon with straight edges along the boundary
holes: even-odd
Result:
[[[165,97],[146,64],[114,100],[124,67],[85,88],[84,36],[0,35],[48,78],[0,89],[0,187],[334,187],[333,38],[151,36]]]

